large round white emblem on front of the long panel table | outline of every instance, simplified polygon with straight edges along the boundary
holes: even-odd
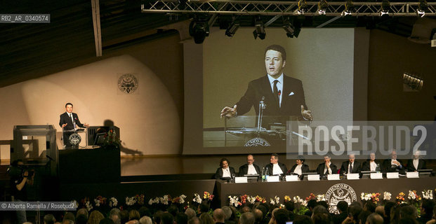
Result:
[[[345,183],[338,183],[331,186],[331,188],[327,190],[324,198],[326,199],[327,204],[329,204],[329,212],[333,214],[339,214],[337,207],[338,202],[345,201],[348,204],[357,202],[355,190]]]

